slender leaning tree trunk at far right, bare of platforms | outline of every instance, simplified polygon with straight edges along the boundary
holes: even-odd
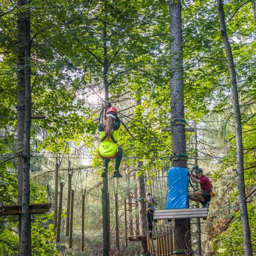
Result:
[[[232,94],[232,100],[233,100],[233,112],[234,112],[234,123],[235,123],[235,143],[237,148],[237,178],[238,178],[238,193],[239,193],[239,206],[240,206],[240,212],[241,212],[242,234],[244,236],[245,255],[252,255],[251,231],[250,231],[250,226],[248,221],[246,193],[245,193],[244,149],[242,146],[242,124],[241,124],[241,114],[240,114],[240,106],[239,106],[239,99],[238,99],[237,76],[235,72],[232,49],[231,49],[230,41],[228,40],[228,36],[227,36],[223,0],[218,0],[218,12],[219,12],[221,36],[223,38],[224,47],[226,51],[228,71],[230,72],[230,85],[231,85],[231,94]]]

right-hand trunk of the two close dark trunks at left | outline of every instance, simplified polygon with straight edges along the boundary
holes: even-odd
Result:
[[[24,4],[28,5],[24,12],[25,18],[25,51],[24,51],[24,82],[25,82],[25,123],[24,123],[24,144],[23,144],[23,180],[22,180],[22,232],[20,255],[31,255],[31,224],[29,214],[30,203],[30,130],[31,130],[31,66],[30,66],[30,0]]]

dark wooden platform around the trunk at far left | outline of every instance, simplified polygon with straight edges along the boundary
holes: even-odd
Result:
[[[43,214],[49,212],[51,204],[30,204],[29,213],[31,214]],[[22,205],[4,205],[0,208],[0,216],[18,215],[22,212]]]

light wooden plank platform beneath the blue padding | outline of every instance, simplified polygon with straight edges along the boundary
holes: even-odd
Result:
[[[154,212],[154,221],[163,219],[187,219],[187,218],[207,218],[208,208],[188,208],[157,210]]]

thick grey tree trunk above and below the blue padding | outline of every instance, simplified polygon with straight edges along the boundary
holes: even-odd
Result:
[[[181,2],[170,0],[170,36],[171,36],[171,117],[183,119],[184,92],[183,92],[183,48],[181,28]],[[185,125],[172,125],[172,152],[173,154],[186,153]],[[186,166],[186,160],[173,161],[173,167]],[[177,249],[191,247],[190,219],[175,220]]]

